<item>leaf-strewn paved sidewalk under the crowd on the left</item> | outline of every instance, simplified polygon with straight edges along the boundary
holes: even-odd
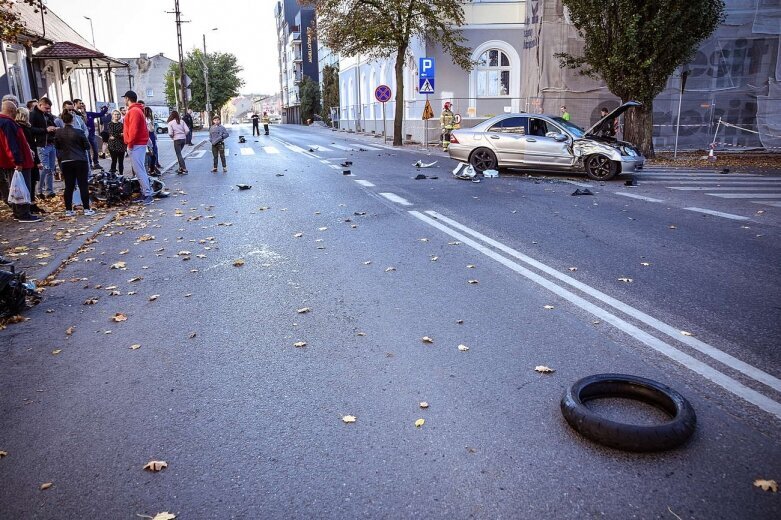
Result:
[[[208,141],[208,132],[195,132],[193,143],[184,154],[189,155]],[[176,166],[176,154],[173,143],[165,141],[159,147],[160,164],[165,172]],[[201,146],[202,148],[202,146]],[[101,166],[108,171],[111,159],[101,159]],[[130,162],[125,158],[125,174],[130,175]],[[13,219],[6,204],[0,204],[0,255],[14,261],[17,271],[26,271],[27,278],[43,280],[54,273],[63,262],[75,254],[85,242],[92,239],[102,228],[110,224],[117,213],[126,211],[128,206],[95,207],[93,217],[85,217],[80,211],[76,217],[65,217],[65,203],[62,198],[64,183],[54,183],[57,197],[38,201],[38,205],[47,213],[41,215],[39,222],[24,224]]]

